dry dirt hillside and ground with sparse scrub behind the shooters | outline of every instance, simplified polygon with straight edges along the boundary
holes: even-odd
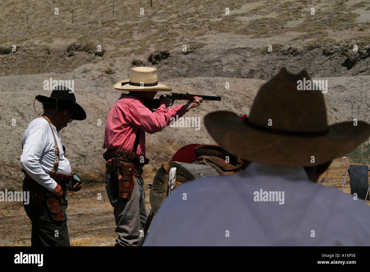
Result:
[[[158,80],[173,92],[222,96],[221,102],[204,102],[186,113],[201,118],[199,130],[166,127],[146,134],[148,212],[149,185],[161,163],[186,144],[215,144],[203,117],[213,110],[248,114],[259,87],[281,67],[328,80],[329,124],[370,122],[370,1],[153,0],[152,8],[149,3],[115,1],[113,16],[110,0],[0,1],[0,190],[21,189],[21,139],[37,116],[34,97],[51,93],[43,90],[44,80],[74,80],[87,119],[71,122],[60,134],[73,171],[88,184],[69,196],[73,245],[113,243],[112,208],[107,199],[98,200],[104,193],[104,126],[120,97],[113,85],[129,78],[134,66],[157,67]],[[35,107],[40,114],[40,103]],[[320,182],[341,188],[349,163],[350,157],[336,160]],[[29,244],[22,205],[0,204],[1,243]]]

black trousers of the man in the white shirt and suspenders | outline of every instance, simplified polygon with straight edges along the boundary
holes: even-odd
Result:
[[[27,190],[27,187],[24,189]],[[65,212],[67,200],[61,200],[61,205],[64,221],[56,223],[49,214],[46,201],[30,200],[28,204],[23,203],[32,223],[31,246],[70,246]]]

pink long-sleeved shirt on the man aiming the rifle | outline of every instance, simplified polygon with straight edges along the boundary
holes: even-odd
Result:
[[[136,96],[122,94],[112,107],[105,124],[104,144],[107,149],[131,151],[134,147],[136,133],[141,130],[137,154],[145,156],[145,133],[153,134],[169,125],[169,118],[183,116],[184,104],[165,108],[161,105],[152,112]]]

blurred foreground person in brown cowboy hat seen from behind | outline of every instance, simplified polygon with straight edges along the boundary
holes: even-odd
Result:
[[[370,207],[316,183],[332,159],[370,136],[370,125],[327,125],[320,90],[285,68],[264,84],[248,118],[209,113],[204,124],[248,165],[233,176],[187,182],[162,203],[144,246],[365,246]]]

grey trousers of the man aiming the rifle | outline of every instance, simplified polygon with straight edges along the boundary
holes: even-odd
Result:
[[[140,235],[139,230],[144,229],[147,221],[144,180],[138,176],[135,178],[130,201],[121,200],[119,197],[113,199],[109,172],[105,173],[105,188],[109,201],[114,207],[113,213],[117,225],[115,232],[118,234],[115,246],[136,246]]]

